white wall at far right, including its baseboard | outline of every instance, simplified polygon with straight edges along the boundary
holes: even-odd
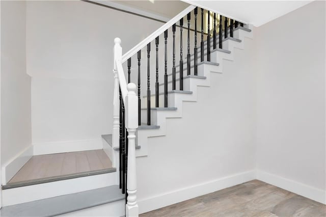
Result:
[[[255,34],[258,178],[325,203],[325,2]]]

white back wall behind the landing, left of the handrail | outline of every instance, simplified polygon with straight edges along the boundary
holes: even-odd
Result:
[[[114,38],[126,52],[162,23],[81,1],[26,5],[35,153],[98,148],[112,131]]]

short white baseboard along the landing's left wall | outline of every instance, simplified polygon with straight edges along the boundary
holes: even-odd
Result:
[[[30,145],[5,163],[1,169],[2,184],[6,184],[32,156],[33,146]]]

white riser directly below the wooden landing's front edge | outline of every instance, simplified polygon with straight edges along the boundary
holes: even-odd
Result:
[[[115,184],[117,172],[3,190],[3,206],[84,192]]]

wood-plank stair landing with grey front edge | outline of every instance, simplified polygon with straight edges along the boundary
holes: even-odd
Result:
[[[102,149],[33,156],[3,189],[115,172]]]

